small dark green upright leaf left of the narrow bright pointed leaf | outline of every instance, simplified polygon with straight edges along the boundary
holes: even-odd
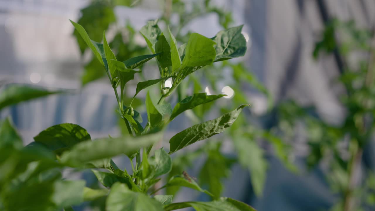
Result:
[[[163,33],[161,33],[155,44],[155,52],[159,54],[156,56],[156,59],[161,68],[167,68],[172,65],[171,47],[169,47],[168,41],[166,41]]]

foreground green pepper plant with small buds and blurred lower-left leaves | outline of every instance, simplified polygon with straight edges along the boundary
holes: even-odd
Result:
[[[245,203],[222,197],[211,202],[172,203],[173,195],[156,194],[167,187],[188,187],[211,195],[202,189],[186,172],[174,175],[161,187],[156,188],[162,175],[172,169],[171,154],[200,140],[205,140],[230,127],[243,108],[239,105],[224,115],[193,125],[169,140],[169,152],[163,148],[152,150],[163,140],[163,131],[173,119],[198,105],[215,101],[224,95],[195,93],[172,109],[165,99],[174,93],[188,75],[213,62],[243,56],[246,41],[242,26],[229,28],[207,38],[192,33],[186,44],[177,46],[171,31],[165,33],[157,20],[148,21],[140,33],[152,54],[118,61],[103,33],[103,43],[92,41],[85,29],[73,21],[83,41],[93,51],[113,87],[118,104],[118,115],[123,119],[128,135],[117,138],[91,140],[87,131],[75,124],[59,124],[49,127],[34,137],[34,142],[23,146],[20,136],[5,119],[0,124],[0,208],[1,210],[73,210],[72,205],[84,201],[105,200],[105,210],[169,211],[186,207],[196,210],[254,210]],[[132,99],[125,100],[125,84],[139,73],[137,68],[156,58],[160,77],[137,84]],[[163,87],[172,78],[172,86]],[[148,92],[145,99],[147,122],[141,125],[139,113],[133,109],[135,96],[152,85],[161,83],[160,98],[153,101]],[[45,96],[49,92],[37,87],[13,85],[0,95],[0,109],[23,100]],[[117,155],[129,157],[132,169],[119,169],[111,159]],[[92,169],[104,188],[86,187],[85,181],[62,178],[61,170]]]

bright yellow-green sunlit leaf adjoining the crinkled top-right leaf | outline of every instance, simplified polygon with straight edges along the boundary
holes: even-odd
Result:
[[[182,67],[195,67],[212,64],[216,56],[216,43],[198,33],[192,33],[186,46]]]

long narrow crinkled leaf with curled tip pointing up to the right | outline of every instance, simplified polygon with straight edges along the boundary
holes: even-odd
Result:
[[[246,106],[248,106],[248,104],[240,105],[236,110],[226,113],[219,118],[193,125],[175,134],[175,136],[169,140],[169,154],[189,146],[192,143],[208,139],[211,136],[223,132],[236,121],[242,109]]]

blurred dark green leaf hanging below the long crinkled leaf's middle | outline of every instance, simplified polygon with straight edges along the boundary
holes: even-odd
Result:
[[[233,159],[228,159],[220,152],[221,143],[216,143],[207,153],[207,160],[199,173],[199,184],[207,185],[208,191],[218,199],[223,191],[222,179],[228,178],[231,173]]]

